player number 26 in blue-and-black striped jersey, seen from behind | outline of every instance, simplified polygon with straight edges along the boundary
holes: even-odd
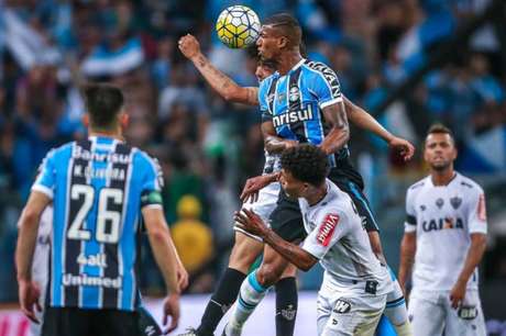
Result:
[[[53,202],[51,270],[43,335],[138,335],[140,220],[168,296],[165,320],[179,317],[177,260],[162,210],[162,173],[153,158],[122,141],[123,94],[108,85],[84,89],[89,137],[51,150],[20,219],[20,303],[35,320],[31,262],[38,219]]]

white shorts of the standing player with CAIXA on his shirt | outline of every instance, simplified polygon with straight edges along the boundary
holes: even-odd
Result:
[[[459,335],[485,336],[480,295],[476,290],[468,290],[461,307],[451,306],[450,291],[413,290],[408,314],[415,336]]]

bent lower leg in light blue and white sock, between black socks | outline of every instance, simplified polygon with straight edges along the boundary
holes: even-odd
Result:
[[[224,335],[241,335],[244,323],[263,300],[267,289],[280,278],[287,265],[288,261],[272,247],[265,245],[262,265],[254,272],[251,272],[241,284],[238,304],[224,329]]]

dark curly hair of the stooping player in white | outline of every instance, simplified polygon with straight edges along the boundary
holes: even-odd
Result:
[[[282,168],[297,180],[320,186],[329,173],[329,159],[317,146],[302,144],[283,152]]]

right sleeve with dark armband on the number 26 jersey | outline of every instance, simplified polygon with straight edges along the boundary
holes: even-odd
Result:
[[[142,182],[141,193],[141,208],[163,208],[162,188],[163,188],[163,172],[160,167],[158,160],[146,157],[146,165],[144,169],[144,178]]]

